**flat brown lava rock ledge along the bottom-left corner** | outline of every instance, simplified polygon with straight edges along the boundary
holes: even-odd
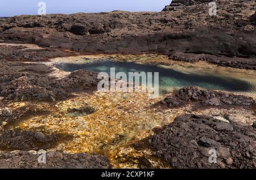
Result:
[[[46,164],[39,163],[40,154],[24,151],[0,152],[2,169],[106,169],[109,161],[98,154],[47,152]]]

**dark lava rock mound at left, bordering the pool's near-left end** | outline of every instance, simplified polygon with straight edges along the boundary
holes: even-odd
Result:
[[[56,79],[46,75],[19,77],[2,87],[1,94],[14,101],[55,101],[67,98],[71,92],[97,86],[97,74],[77,70],[68,77]]]

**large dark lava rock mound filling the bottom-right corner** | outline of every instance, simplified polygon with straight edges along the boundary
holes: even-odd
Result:
[[[256,130],[248,125],[181,115],[143,142],[172,168],[256,168]]]

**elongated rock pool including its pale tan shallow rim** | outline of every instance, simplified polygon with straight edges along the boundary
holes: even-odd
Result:
[[[123,58],[123,57],[122,57]],[[152,57],[148,57],[152,58]],[[128,77],[129,72],[159,72],[159,92],[166,94],[174,88],[184,86],[199,86],[203,89],[224,90],[239,93],[256,92],[256,73],[246,70],[211,67],[213,65],[202,66],[197,63],[185,65],[184,62],[173,62],[174,64],[154,64],[141,63],[137,57],[133,61],[124,61],[118,57],[102,58],[82,58],[81,61],[66,61],[53,64],[56,68],[66,72],[73,72],[79,69],[86,69],[91,72],[106,72],[110,74],[110,68],[115,68],[115,73],[125,72]],[[158,60],[156,60],[158,61]],[[170,60],[171,61],[171,60]],[[138,63],[139,62],[139,63]],[[180,64],[179,64],[180,63]],[[154,82],[154,81],[153,81]]]

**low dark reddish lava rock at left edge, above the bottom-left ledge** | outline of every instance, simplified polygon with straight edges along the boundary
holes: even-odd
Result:
[[[0,131],[0,150],[39,150],[53,146],[57,137],[32,131]]]

